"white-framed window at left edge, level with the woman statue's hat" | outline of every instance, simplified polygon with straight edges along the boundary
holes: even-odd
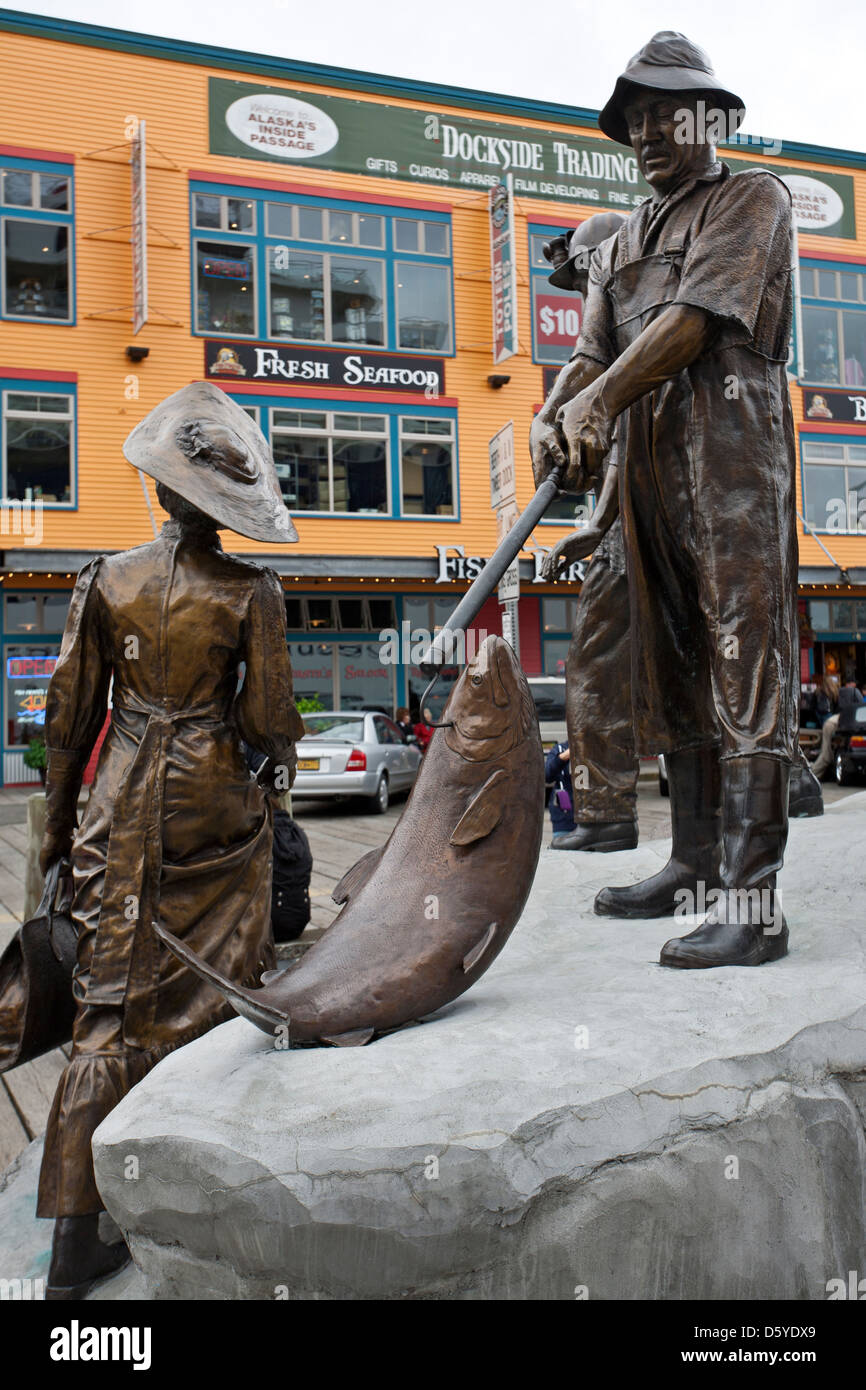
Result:
[[[42,385],[42,384],[39,384]],[[40,389],[3,392],[3,496],[74,505],[75,398]]]

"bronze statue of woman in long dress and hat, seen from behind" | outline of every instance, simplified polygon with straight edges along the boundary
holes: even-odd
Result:
[[[240,741],[267,755],[279,791],[303,734],[279,580],[218,538],[228,527],[297,539],[259,427],[196,384],[153,410],[124,452],[157,480],[170,520],[149,545],[81,571],[46,710],[40,862],[71,858],[78,930],[72,1058],[39,1179],[38,1215],[56,1219],[49,1298],[83,1297],[128,1258],[99,1237],[95,1129],[160,1058],[231,1016],[160,945],[154,919],[232,980],[257,983],[274,963],[271,810]],[[111,727],[75,828],[111,681]]]

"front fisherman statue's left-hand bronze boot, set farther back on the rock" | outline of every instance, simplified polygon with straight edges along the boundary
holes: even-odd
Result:
[[[673,917],[683,892],[698,901],[717,888],[721,859],[721,788],[719,744],[678,749],[664,759],[670,785],[673,845],[670,859],[652,878],[627,888],[602,888],[595,899],[601,917]]]

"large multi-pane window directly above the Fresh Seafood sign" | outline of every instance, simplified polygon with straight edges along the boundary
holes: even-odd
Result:
[[[453,352],[445,215],[196,188],[192,231],[199,334]]]

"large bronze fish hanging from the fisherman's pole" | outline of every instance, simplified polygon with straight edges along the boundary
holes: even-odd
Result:
[[[434,1013],[499,955],[527,901],[544,823],[544,755],[525,676],[488,637],[460,676],[391,837],[343,876],[343,909],[261,988],[158,937],[245,1019],[288,1045],[357,1047]]]

